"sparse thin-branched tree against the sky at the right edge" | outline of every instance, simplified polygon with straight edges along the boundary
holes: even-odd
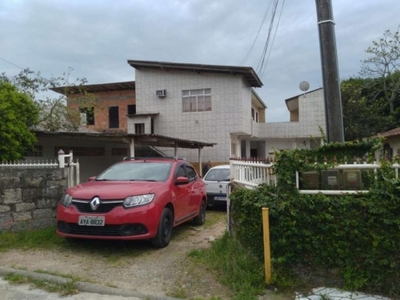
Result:
[[[369,84],[374,88],[373,96],[382,96],[393,115],[400,95],[399,30],[394,33],[385,31],[382,38],[372,42],[366,53],[372,56],[362,62],[360,75],[372,79]]]

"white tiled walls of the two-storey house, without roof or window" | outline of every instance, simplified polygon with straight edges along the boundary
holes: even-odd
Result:
[[[181,139],[217,143],[201,151],[202,161],[228,162],[232,154],[266,157],[273,149],[315,147],[325,132],[322,89],[298,97],[296,122],[258,123],[251,116],[252,88],[240,75],[177,70],[136,69],[136,113],[156,114],[154,133]],[[211,89],[211,111],[183,112],[182,91]],[[166,90],[159,98],[157,90]],[[150,118],[135,117],[128,122],[128,133],[135,123]],[[234,149],[231,149],[231,146]],[[173,149],[162,149],[173,155]],[[198,160],[198,150],[179,149],[178,156]]]

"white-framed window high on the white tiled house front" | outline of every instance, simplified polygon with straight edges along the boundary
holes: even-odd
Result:
[[[211,111],[211,89],[182,91],[182,111]]]

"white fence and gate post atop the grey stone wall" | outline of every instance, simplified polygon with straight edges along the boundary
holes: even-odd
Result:
[[[79,184],[80,168],[79,161],[74,162],[72,151],[69,154],[64,154],[64,151],[58,152],[58,160],[32,160],[32,161],[16,161],[16,162],[1,162],[0,167],[4,168],[67,168],[67,184],[68,187]]]

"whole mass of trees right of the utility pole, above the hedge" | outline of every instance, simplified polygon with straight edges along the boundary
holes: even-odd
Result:
[[[345,140],[374,136],[400,126],[399,31],[373,41],[360,77],[341,82]]]

